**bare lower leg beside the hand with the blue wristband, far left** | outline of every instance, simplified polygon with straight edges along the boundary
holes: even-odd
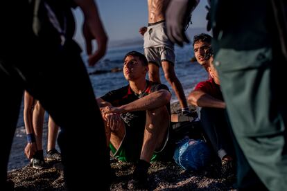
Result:
[[[35,104],[33,110],[33,128],[37,144],[37,150],[42,150],[43,122],[45,110],[39,101]]]

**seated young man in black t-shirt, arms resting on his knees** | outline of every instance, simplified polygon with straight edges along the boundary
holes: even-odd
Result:
[[[125,55],[128,85],[97,101],[105,121],[107,145],[121,161],[137,162],[134,181],[146,183],[148,167],[168,141],[171,93],[164,84],[146,80],[148,61],[136,51]]]

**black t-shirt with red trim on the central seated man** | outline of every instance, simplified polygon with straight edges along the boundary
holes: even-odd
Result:
[[[105,94],[105,96],[102,96],[101,99],[105,100],[106,102],[110,102],[114,107],[119,107],[124,104],[128,104],[130,102],[133,102],[135,100],[138,100],[139,98],[143,98],[144,96],[147,96],[149,93],[159,91],[160,89],[166,89],[169,91],[168,87],[164,84],[159,84],[156,82],[150,82],[146,80],[148,86],[146,90],[141,93],[140,95],[137,95],[132,91],[130,88],[130,85],[122,87],[121,89],[116,89],[113,91],[110,91]],[[166,104],[166,108],[168,109],[168,112],[171,113],[170,104]],[[132,111],[127,113],[122,113],[121,118],[125,121],[125,123],[128,126],[143,126],[146,124],[146,111]]]

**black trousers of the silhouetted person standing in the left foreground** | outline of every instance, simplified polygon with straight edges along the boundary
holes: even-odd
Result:
[[[79,52],[72,50],[62,51],[57,57],[49,55],[51,57],[46,57],[49,62],[35,64],[14,64],[10,60],[1,60],[1,185],[6,180],[8,156],[21,98],[26,89],[40,100],[44,109],[61,127],[58,144],[67,187],[77,190],[82,186],[90,188],[95,183],[108,187],[108,176],[102,174],[108,172],[110,160],[101,113],[85,65]],[[95,158],[91,156],[92,152],[96,153]],[[91,172],[101,174],[88,175]]]

